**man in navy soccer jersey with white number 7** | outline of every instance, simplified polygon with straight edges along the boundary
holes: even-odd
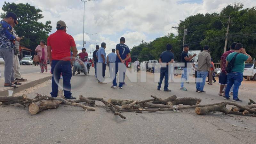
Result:
[[[115,78],[113,80],[113,85],[111,86],[111,88],[117,87],[116,74],[117,74],[118,70],[119,70],[119,86],[118,86],[118,88],[120,88],[120,89],[123,88],[124,75],[125,75],[125,72],[126,72],[126,67],[124,65],[124,62],[131,57],[130,49],[124,43],[125,43],[125,38],[121,37],[120,38],[120,44],[116,45],[116,73],[115,73]],[[126,55],[128,55],[128,56],[126,57]],[[118,69],[118,63],[123,63],[124,67],[122,65]]]

